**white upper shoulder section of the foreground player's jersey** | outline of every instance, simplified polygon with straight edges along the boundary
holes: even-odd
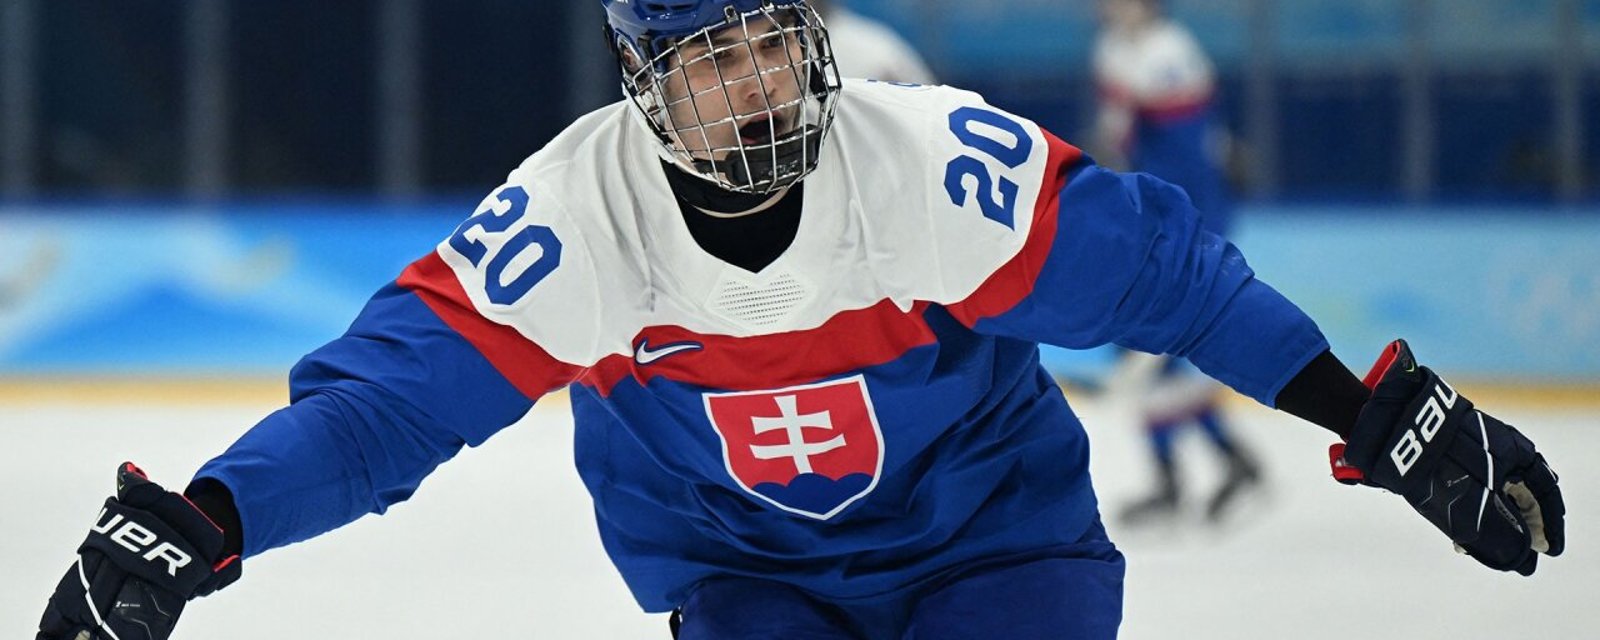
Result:
[[[971,93],[851,80],[842,101],[851,117],[838,118],[805,181],[800,229],[758,274],[694,243],[661,173],[658,142],[624,102],[579,120],[517,168],[501,194],[525,198],[485,202],[496,218],[515,221],[498,232],[466,227],[461,237],[499,256],[504,269],[453,251],[456,240],[442,243],[440,256],[485,318],[515,328],[555,360],[592,366],[632,357],[650,326],[749,338],[814,330],[882,302],[901,312],[918,301],[962,302],[1022,250],[1040,186],[1054,187],[1062,163],[1077,160],[1058,142],[1050,166],[1050,141],[1037,126],[1002,120]],[[947,120],[963,107],[984,114],[960,125],[978,147],[950,134]],[[1006,150],[1003,160],[1016,165],[979,150],[986,147]],[[960,186],[971,192],[960,203],[941,181],[957,157],[974,160],[974,178]],[[995,195],[989,176],[1011,186]],[[1045,197],[1053,200],[1054,189]],[[1005,198],[1005,224],[986,218],[978,198]],[[538,227],[563,251],[581,253],[557,256],[555,243],[517,240]],[[496,278],[531,286],[496,301]]]

